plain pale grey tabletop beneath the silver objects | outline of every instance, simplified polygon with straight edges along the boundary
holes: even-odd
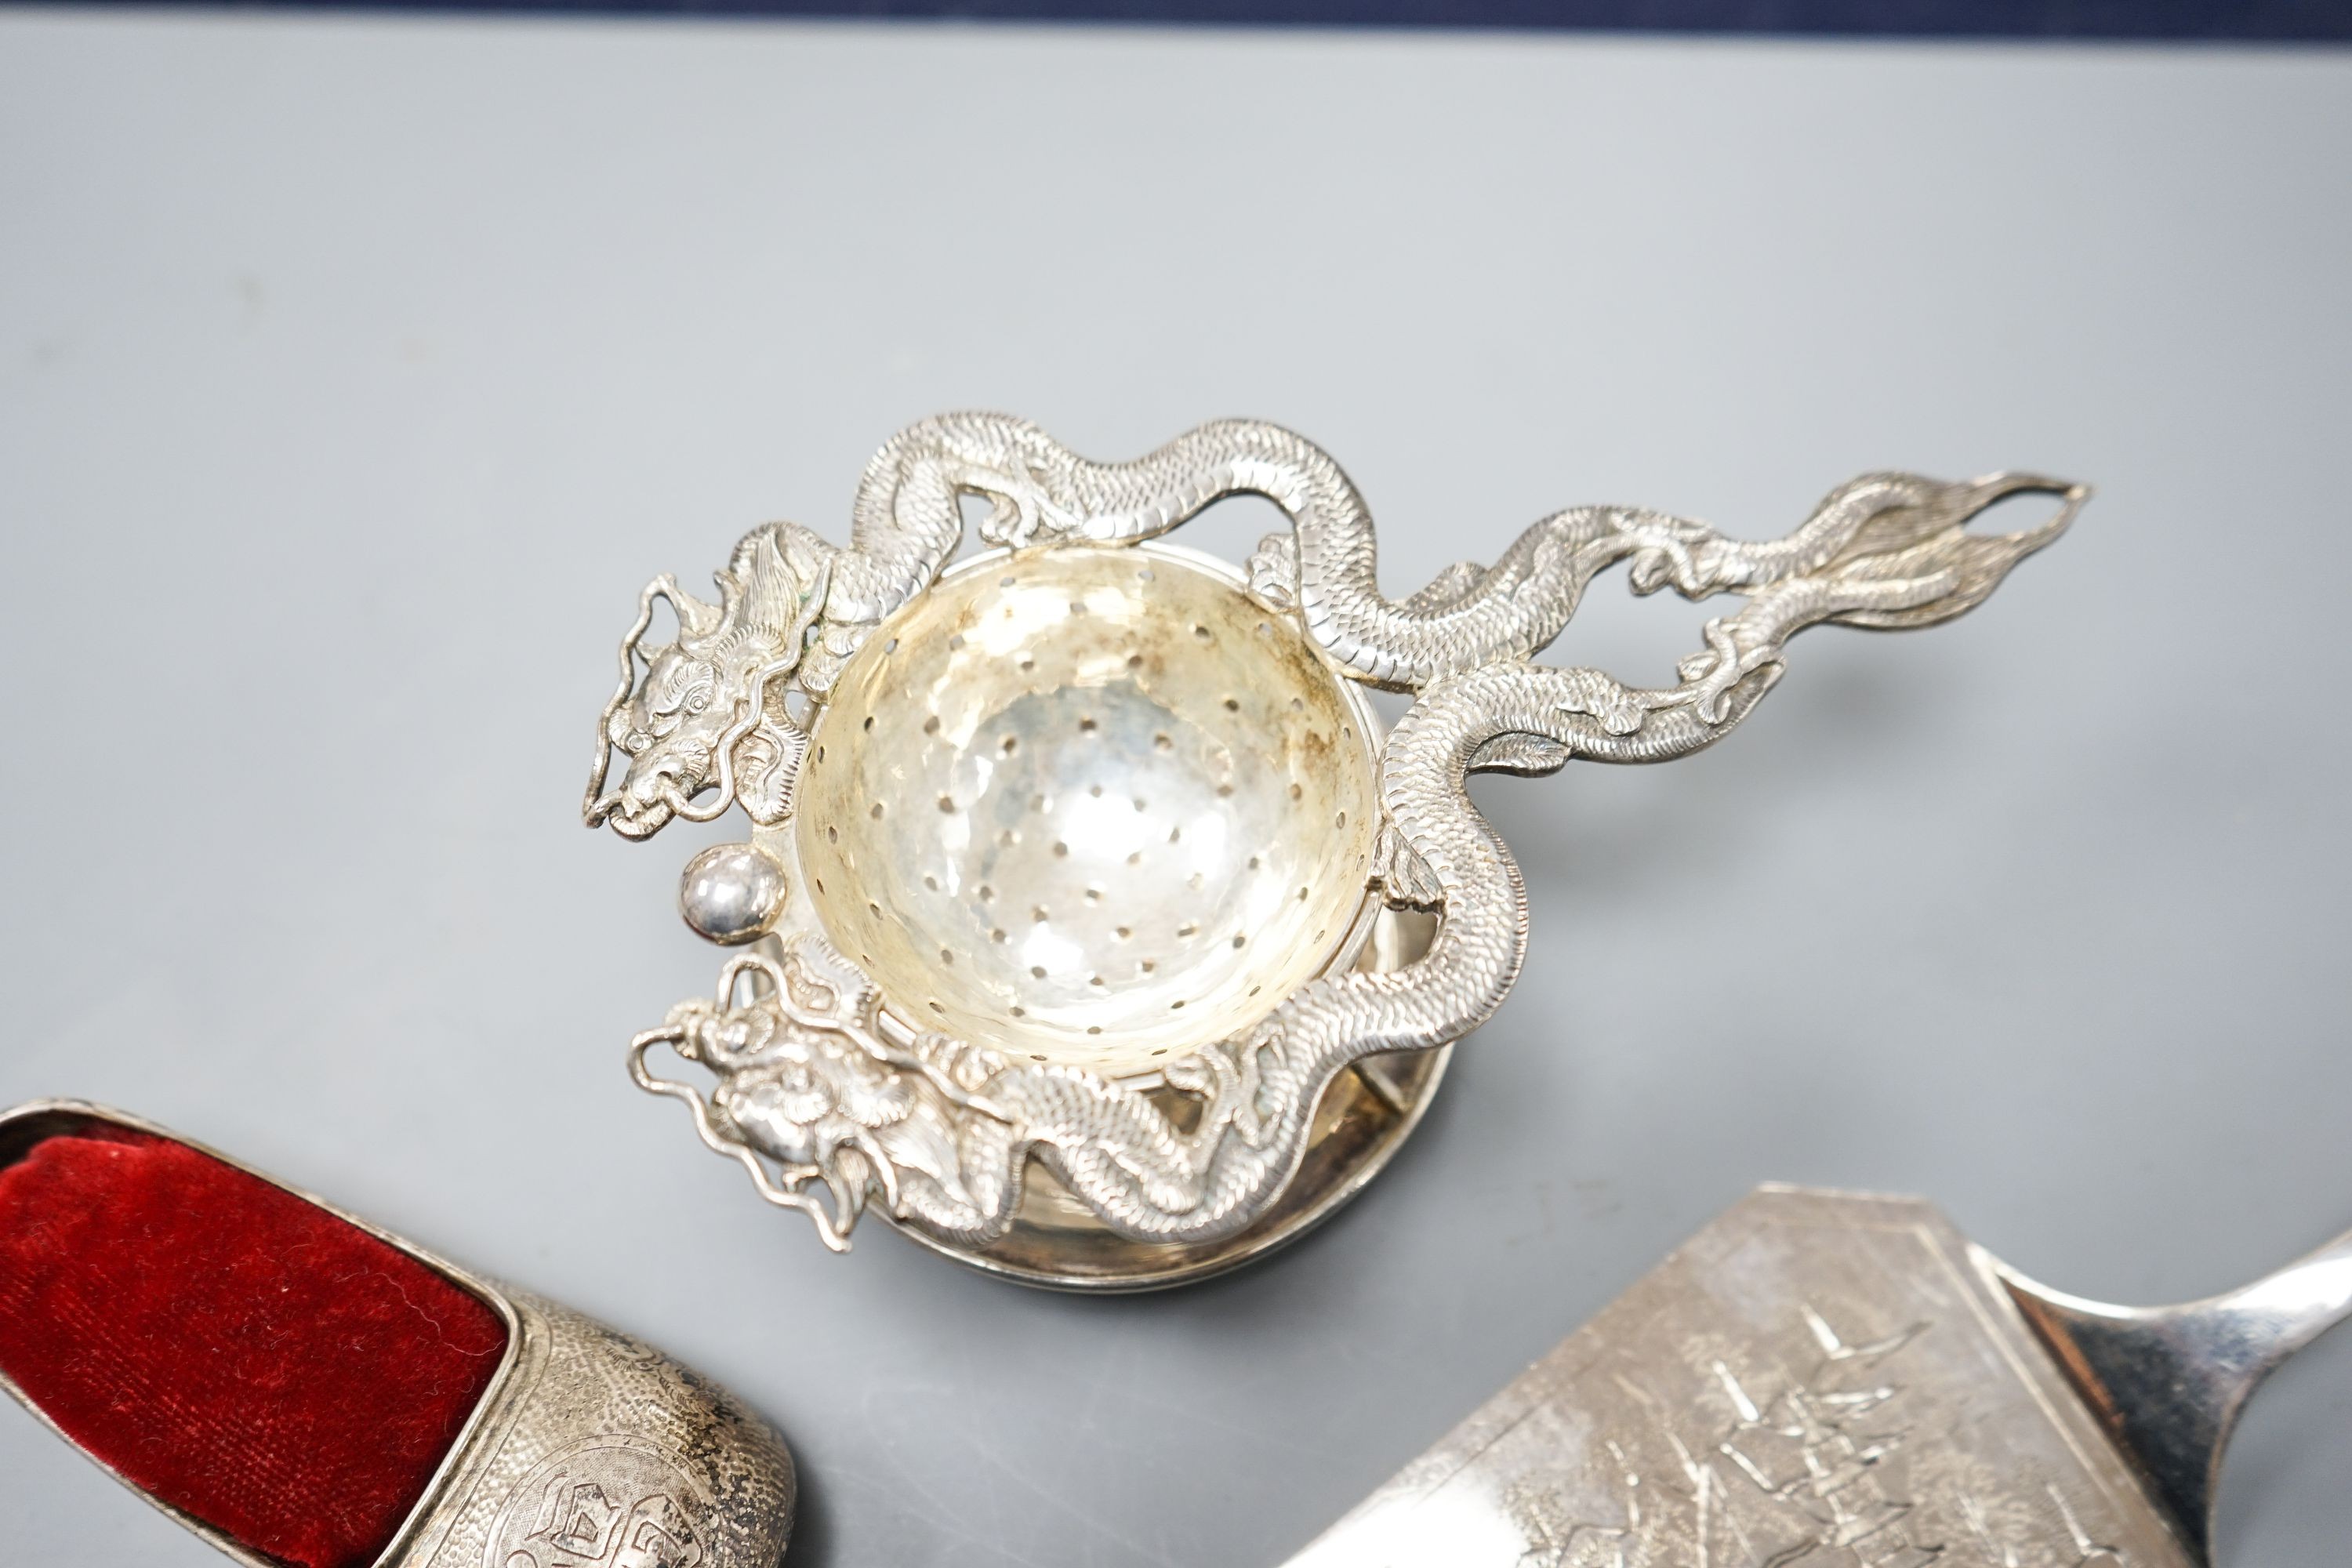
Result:
[[[802,1568],[1275,1563],[1762,1178],[2169,1300],[2352,1222],[2352,59],[0,19],[0,1100],[214,1140],[793,1436]],[[1571,501],[2100,484],[1724,748],[1489,780],[1534,961],[1235,1279],[851,1258],[637,1095],[715,964],[588,835],[612,642],[931,409],[1329,444],[1395,592]],[[1188,543],[1247,545],[1221,508]],[[1708,611],[1604,583],[1656,679]],[[706,839],[715,832],[706,830]],[[2246,1568],[2352,1559],[2352,1342]],[[9,1561],[214,1561],[14,1410]]]

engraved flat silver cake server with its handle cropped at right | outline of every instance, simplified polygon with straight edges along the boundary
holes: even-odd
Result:
[[[1289,1568],[2199,1568],[2230,1420],[2347,1260],[2136,1312],[1917,1199],[1764,1187]]]

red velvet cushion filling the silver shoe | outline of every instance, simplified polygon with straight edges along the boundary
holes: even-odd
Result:
[[[379,1561],[506,1340],[421,1258],[188,1145],[61,1119],[0,1147],[0,1373],[259,1559]]]

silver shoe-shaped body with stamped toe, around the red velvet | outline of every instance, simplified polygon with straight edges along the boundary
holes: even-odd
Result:
[[[468,1274],[266,1171],[103,1105],[35,1100],[0,1114],[0,1164],[94,1121],[169,1138],[270,1180],[506,1319],[496,1382],[376,1568],[776,1568],[783,1559],[793,1458],[727,1389],[569,1307]],[[0,1387],[54,1429],[14,1382],[0,1378]],[[240,1563],[280,1568],[132,1490]]]

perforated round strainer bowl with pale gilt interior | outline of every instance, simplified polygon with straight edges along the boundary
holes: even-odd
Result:
[[[849,661],[797,858],[908,1023],[1143,1072],[1338,957],[1376,788],[1296,618],[1190,552],[1065,545],[957,567]]]

